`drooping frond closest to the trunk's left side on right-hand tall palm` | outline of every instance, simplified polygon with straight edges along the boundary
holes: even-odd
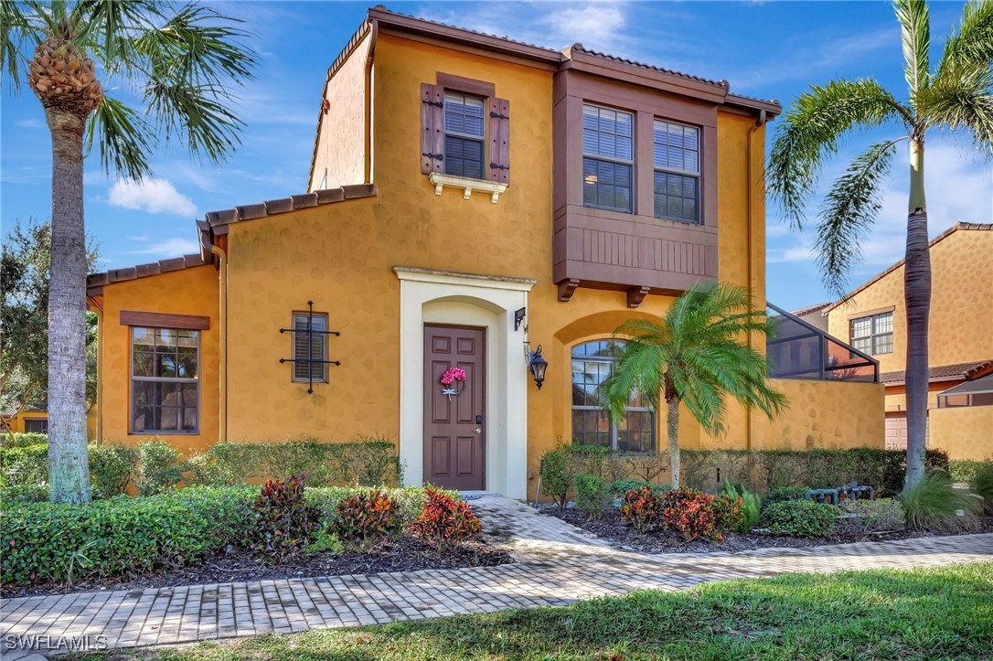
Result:
[[[844,293],[848,270],[861,258],[860,241],[883,205],[897,141],[872,145],[834,182],[820,206],[817,265],[826,287]]]

